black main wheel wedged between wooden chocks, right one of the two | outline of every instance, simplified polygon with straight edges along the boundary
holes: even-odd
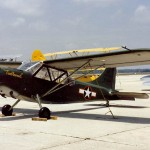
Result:
[[[40,118],[50,119],[50,116],[51,116],[51,112],[50,112],[50,110],[47,107],[42,107],[39,110],[39,117]]]

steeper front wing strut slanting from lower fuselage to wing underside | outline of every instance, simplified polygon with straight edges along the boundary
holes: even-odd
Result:
[[[84,63],[83,65],[81,65],[79,68],[77,68],[75,71],[73,71],[70,75],[68,75],[67,78],[63,79],[59,84],[57,84],[56,86],[54,86],[53,88],[51,88],[50,90],[48,90],[45,94],[43,94],[41,97],[44,97],[46,95],[51,94],[54,90],[56,90],[56,88],[65,80],[67,80],[69,77],[71,77],[74,73],[76,73],[78,70],[82,69],[84,66],[86,66],[87,64],[90,63],[90,61],[92,61],[92,59],[89,59],[86,63]]]

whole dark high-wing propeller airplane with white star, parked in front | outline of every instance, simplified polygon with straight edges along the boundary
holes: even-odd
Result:
[[[16,102],[2,107],[2,114],[11,116],[20,100],[37,102],[39,117],[49,119],[51,111],[42,103],[74,103],[90,100],[134,100],[148,98],[145,93],[115,90],[116,67],[150,64],[150,49],[121,51],[87,56],[23,63],[19,68],[0,68],[0,95]],[[100,77],[80,82],[71,77],[80,69],[105,67]],[[68,70],[73,72],[68,73]]]

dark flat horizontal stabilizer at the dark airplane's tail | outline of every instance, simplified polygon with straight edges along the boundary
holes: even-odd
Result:
[[[120,99],[125,100],[134,100],[138,99],[148,99],[149,96],[146,93],[136,93],[136,92],[115,92],[114,95],[117,95]]]

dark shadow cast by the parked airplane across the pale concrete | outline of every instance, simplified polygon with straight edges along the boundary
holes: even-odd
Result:
[[[100,104],[85,104],[85,106],[98,106],[98,107],[75,109],[75,110],[68,110],[68,111],[56,111],[56,112],[52,112],[52,115],[57,115],[58,117],[63,117],[63,118],[73,118],[73,119],[87,119],[87,120],[99,120],[99,121],[111,121],[111,122],[113,121],[113,122],[135,123],[135,124],[150,124],[150,118],[132,117],[132,116],[115,116],[115,119],[113,119],[110,113],[108,113],[107,115],[82,113],[88,110],[96,110],[102,108],[106,109],[105,106],[100,106]],[[144,106],[129,106],[129,105],[111,105],[111,107],[149,108]],[[21,119],[28,119],[32,117],[38,117],[38,110],[15,108],[14,112],[16,113],[16,116],[0,117],[0,121],[15,121]],[[22,113],[22,114],[19,116],[17,115],[17,113]]]

